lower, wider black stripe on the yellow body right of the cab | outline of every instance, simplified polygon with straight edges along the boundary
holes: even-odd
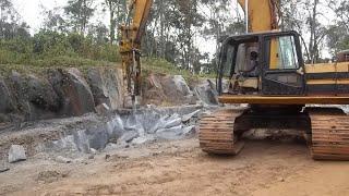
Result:
[[[349,84],[316,84],[306,85],[308,94],[341,95],[349,94]]]

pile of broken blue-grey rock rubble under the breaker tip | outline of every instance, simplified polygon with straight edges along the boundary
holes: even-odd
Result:
[[[202,110],[179,114],[160,112],[156,109],[117,114],[106,124],[81,130],[60,140],[46,145],[47,150],[69,149],[83,154],[110,148],[124,148],[156,139],[181,139],[195,132],[195,119]],[[111,145],[113,144],[113,145]],[[111,147],[112,146],[112,147]]]

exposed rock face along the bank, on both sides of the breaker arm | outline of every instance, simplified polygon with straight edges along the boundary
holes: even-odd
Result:
[[[9,122],[20,124],[119,110],[123,105],[122,84],[121,70],[111,66],[84,71],[48,69],[35,74],[12,71],[0,76],[0,130]],[[181,75],[151,74],[144,78],[143,105],[197,103],[218,105],[212,79],[188,84]]]

